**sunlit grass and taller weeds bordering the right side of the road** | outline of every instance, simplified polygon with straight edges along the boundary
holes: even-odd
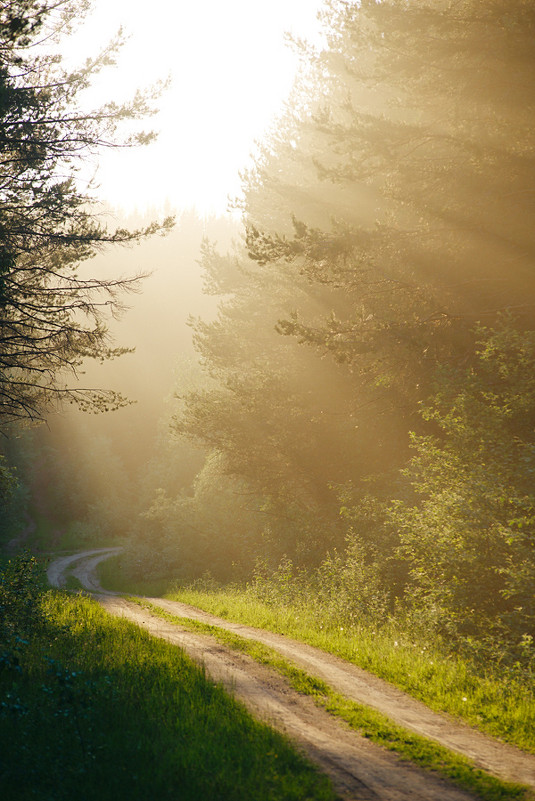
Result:
[[[146,594],[163,589],[135,584],[120,577],[121,557],[100,566],[110,589]],[[168,581],[170,600],[182,601],[228,620],[287,634],[315,645],[383,678],[436,711],[447,712],[504,742],[535,753],[535,681],[532,663],[489,661],[474,645],[459,652],[434,628],[426,631],[419,619],[373,619],[359,616],[349,599],[338,595],[331,603],[286,564],[267,579],[257,576],[242,587],[218,586],[206,579],[175,586]],[[353,598],[354,601],[354,598]],[[344,609],[345,605],[345,609]],[[531,649],[530,643],[526,649]]]

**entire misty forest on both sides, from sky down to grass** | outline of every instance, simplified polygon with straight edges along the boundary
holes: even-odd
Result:
[[[66,138],[99,64],[23,86],[32,31],[2,20],[1,543],[119,543],[125,583],[286,593],[530,670],[535,6],[321,17],[232,216],[111,233],[58,171],[146,103]]]

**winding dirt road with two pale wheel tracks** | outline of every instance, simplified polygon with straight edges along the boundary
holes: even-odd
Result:
[[[98,583],[96,567],[118,550],[86,551],[57,559],[48,568],[48,580],[52,586],[64,587],[67,576],[75,576],[108,612],[128,618],[155,636],[183,648],[193,659],[203,663],[212,679],[222,683],[254,715],[298,743],[330,775],[337,791],[347,801],[463,801],[472,798],[360,737],[319,709],[311,698],[299,695],[284,679],[249,657],[220,645],[209,636],[192,634],[169,623],[116,593],[104,591]],[[347,698],[374,707],[407,729],[465,754],[489,773],[535,788],[535,756],[432,712],[355,665],[288,637],[231,623],[186,604],[160,598],[147,600],[174,615],[210,623],[262,642]]]

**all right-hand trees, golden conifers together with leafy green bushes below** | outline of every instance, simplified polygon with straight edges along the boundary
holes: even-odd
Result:
[[[317,563],[349,526],[346,567],[393,595],[527,631],[535,9],[330,0],[323,22],[243,175],[243,242],[205,248],[217,385],[177,428],[249,487],[271,557]]]

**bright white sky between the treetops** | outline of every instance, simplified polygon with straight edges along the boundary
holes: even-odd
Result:
[[[98,89],[120,100],[171,75],[147,122],[158,141],[100,160],[99,195],[126,211],[161,206],[222,213],[238,171],[281,107],[297,68],[284,33],[314,40],[321,0],[94,0],[69,41],[82,61],[123,26],[130,36]]]

